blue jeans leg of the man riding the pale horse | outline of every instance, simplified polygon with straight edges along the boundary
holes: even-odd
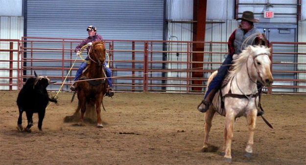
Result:
[[[218,69],[217,75],[212,79],[212,82],[208,86],[204,99],[206,99],[207,95],[212,91],[212,89],[220,87],[225,75],[228,72],[228,69],[231,66],[230,64],[232,64],[232,62],[233,62],[233,56],[228,55],[226,59],[224,60],[224,62],[222,63],[222,65],[220,66],[220,68]]]

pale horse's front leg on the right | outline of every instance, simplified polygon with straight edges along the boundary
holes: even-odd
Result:
[[[256,119],[257,119],[257,109],[254,109],[251,111],[251,113],[247,114],[247,123],[249,126],[249,140],[247,143],[247,146],[245,148],[245,157],[250,158],[252,153],[253,153],[253,144],[254,144],[254,132],[255,132],[255,127],[256,127]]]

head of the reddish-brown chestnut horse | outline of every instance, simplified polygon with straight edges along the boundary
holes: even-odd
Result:
[[[98,65],[103,65],[105,62],[105,46],[102,41],[93,42],[92,47],[89,50],[90,60]]]

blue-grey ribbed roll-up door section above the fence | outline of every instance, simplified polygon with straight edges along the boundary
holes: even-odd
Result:
[[[27,0],[27,36],[163,40],[164,0]]]

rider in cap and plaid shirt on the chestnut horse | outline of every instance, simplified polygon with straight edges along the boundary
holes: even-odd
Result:
[[[94,27],[93,25],[90,25],[87,27],[86,29],[88,31],[88,37],[81,41],[81,43],[79,43],[76,47],[75,47],[75,52],[76,52],[76,55],[79,55],[80,54],[80,49],[84,46],[84,45],[88,45],[87,47],[87,53],[89,53],[89,47],[92,46],[92,42],[94,41],[102,41],[102,36],[99,35],[99,34],[96,34],[96,27]],[[88,60],[88,57],[85,59],[85,60]],[[76,71],[76,74],[75,74],[75,78],[74,78],[74,81],[77,81],[80,76],[82,75],[82,72],[83,70],[86,68],[87,66],[87,63],[86,62],[82,62],[81,65],[79,66],[79,69]],[[108,77],[107,78],[107,83],[108,83],[108,87],[107,87],[107,92],[106,92],[106,95],[109,96],[109,97],[112,97],[114,96],[114,90],[112,88],[112,71],[110,68],[108,67],[105,67],[105,70],[106,70],[106,76]],[[70,86],[70,89],[72,91],[75,91],[75,82],[73,84],[71,84]]]

